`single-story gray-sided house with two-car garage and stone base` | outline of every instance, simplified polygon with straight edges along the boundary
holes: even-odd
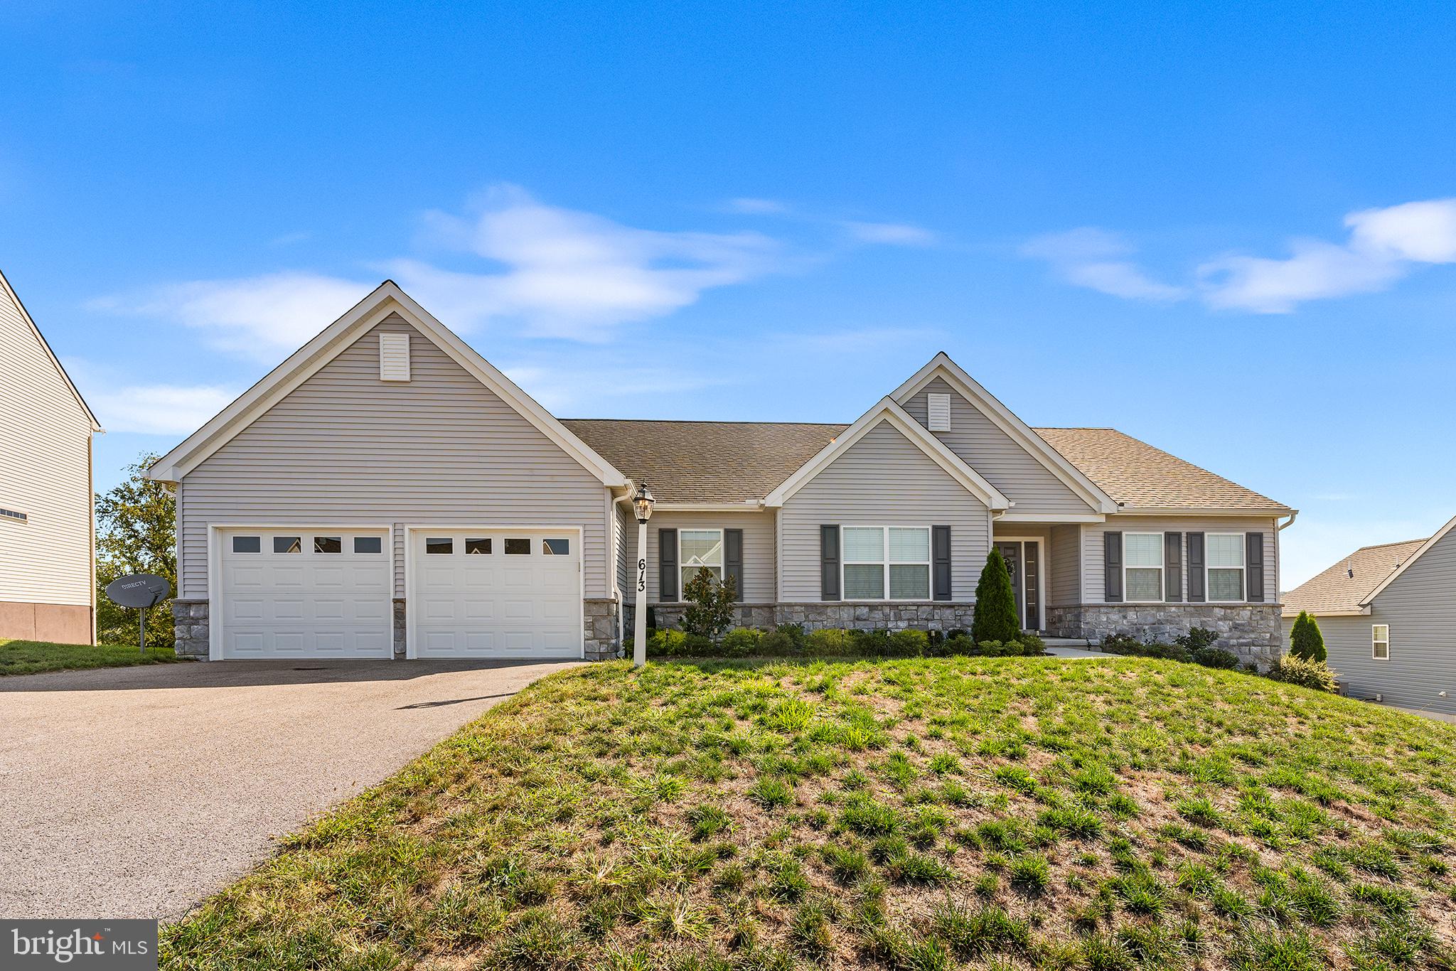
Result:
[[[619,649],[706,566],[754,625],[968,627],[994,543],[1029,629],[1280,642],[1293,510],[1108,428],[1028,428],[943,354],[850,425],[562,421],[384,282],[150,475],[178,646],[232,657]]]

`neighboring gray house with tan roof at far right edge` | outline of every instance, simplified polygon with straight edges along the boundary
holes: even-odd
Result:
[[[1284,595],[1325,635],[1329,667],[1363,699],[1456,715],[1456,518],[1424,540],[1364,546]]]

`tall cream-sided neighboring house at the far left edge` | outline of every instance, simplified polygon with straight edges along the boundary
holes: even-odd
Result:
[[[96,416],[0,274],[0,638],[96,639]]]

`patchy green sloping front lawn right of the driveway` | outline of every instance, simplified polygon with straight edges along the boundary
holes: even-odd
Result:
[[[523,691],[163,935],[175,968],[1453,968],[1456,728],[1149,659]]]

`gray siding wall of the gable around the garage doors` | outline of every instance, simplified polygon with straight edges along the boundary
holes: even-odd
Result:
[[[411,335],[408,383],[379,380],[379,333]],[[182,588],[207,595],[208,524],[579,526],[587,597],[610,595],[606,488],[393,314],[182,482]]]

